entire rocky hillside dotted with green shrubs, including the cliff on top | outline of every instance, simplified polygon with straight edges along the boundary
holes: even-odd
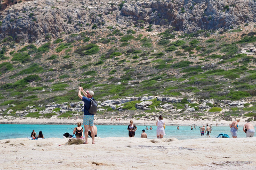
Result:
[[[114,111],[139,117],[161,113],[169,118],[212,114],[216,120],[252,119],[253,5],[92,0],[10,4],[0,16],[0,114],[79,115],[81,84],[95,92],[103,116]]]

